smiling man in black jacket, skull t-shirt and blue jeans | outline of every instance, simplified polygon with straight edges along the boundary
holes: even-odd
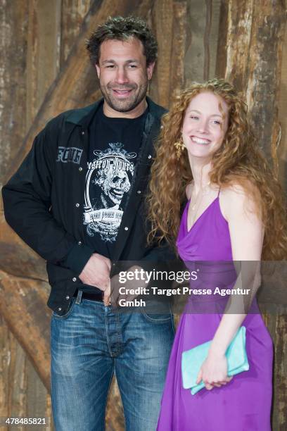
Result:
[[[157,56],[139,18],[87,43],[103,99],[53,118],[3,189],[6,220],[47,261],[57,431],[104,429],[115,373],[127,430],[155,430],[174,336],[165,314],[110,307],[115,261],[165,261],[146,244],[145,195],[165,110],[146,97]],[[113,262],[113,263],[112,263]]]

